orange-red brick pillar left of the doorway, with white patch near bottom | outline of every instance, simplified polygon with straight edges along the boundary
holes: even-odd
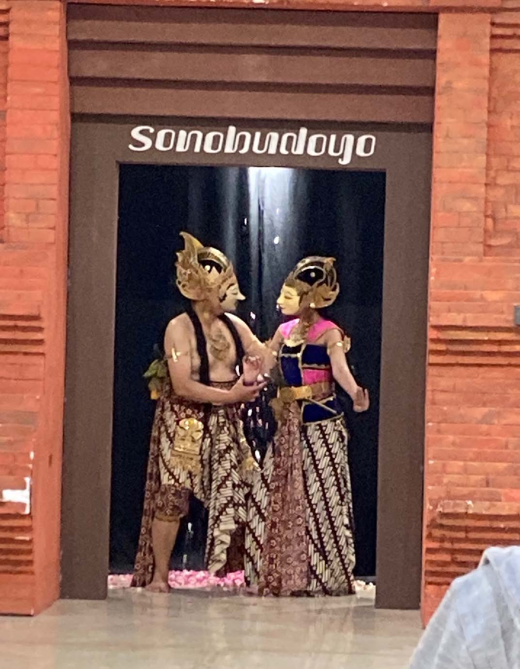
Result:
[[[58,597],[70,114],[65,8],[9,0],[0,244],[0,613]],[[1,18],[1,15],[0,15]],[[1,33],[0,33],[1,35]],[[1,75],[0,75],[1,82]]]

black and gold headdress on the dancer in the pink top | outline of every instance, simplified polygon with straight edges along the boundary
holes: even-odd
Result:
[[[333,304],[339,293],[335,258],[309,256],[298,262],[285,280],[294,288],[306,306],[321,309]]]

